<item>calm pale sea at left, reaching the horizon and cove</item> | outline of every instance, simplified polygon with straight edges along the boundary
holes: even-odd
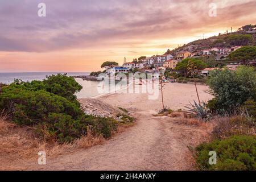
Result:
[[[32,81],[32,80],[43,80],[47,75],[56,75],[57,72],[38,72],[38,73],[0,73],[0,82],[5,84],[11,84],[15,79],[20,79],[22,81]],[[68,76],[85,76],[89,73],[68,73]],[[87,81],[81,78],[76,78],[76,81],[82,85],[82,90],[77,93],[77,98],[87,98],[99,95],[97,88],[99,82],[97,81]]]

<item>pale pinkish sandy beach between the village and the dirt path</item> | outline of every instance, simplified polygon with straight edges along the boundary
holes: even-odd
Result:
[[[213,98],[209,94],[209,88],[205,85],[197,85],[201,101],[208,101]],[[166,83],[163,88],[164,105],[172,110],[183,109],[189,106],[189,102],[197,101],[196,89],[193,84]],[[113,106],[121,106],[126,109],[139,111],[155,111],[162,109],[162,98],[149,100],[148,94],[130,94],[116,92],[106,96],[95,97],[101,101],[107,102]]]

